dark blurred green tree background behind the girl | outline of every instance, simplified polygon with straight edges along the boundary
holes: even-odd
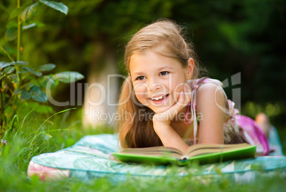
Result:
[[[16,1],[0,2],[0,43],[15,55],[16,41],[5,41],[4,37]],[[40,27],[23,31],[23,60],[29,65],[54,63],[57,68],[53,73],[73,70],[85,75],[80,82],[60,84],[53,90],[53,98],[59,102],[75,100],[65,107],[48,104],[55,112],[77,107],[79,110],[72,117],[81,119],[86,96],[84,84],[100,82],[105,85],[107,74],[126,75],[124,46],[132,34],[158,18],[171,18],[186,27],[188,38],[196,45],[201,65],[209,77],[224,81],[240,73],[240,83],[233,87],[229,84],[225,90],[231,99],[233,89],[240,88],[241,113],[254,118],[258,112],[265,112],[278,132],[285,134],[286,1],[59,2],[68,6],[67,16],[43,6],[33,16]],[[0,61],[8,61],[4,53]],[[112,100],[117,100],[121,83],[122,79],[112,82]],[[71,87],[74,92],[70,91]],[[100,110],[112,112],[115,108]]]

